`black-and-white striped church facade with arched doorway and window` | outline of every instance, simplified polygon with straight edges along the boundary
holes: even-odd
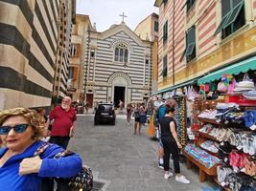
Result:
[[[95,29],[95,28],[94,28]],[[152,43],[122,22],[105,32],[88,33],[84,66],[85,100],[125,106],[151,95]]]

